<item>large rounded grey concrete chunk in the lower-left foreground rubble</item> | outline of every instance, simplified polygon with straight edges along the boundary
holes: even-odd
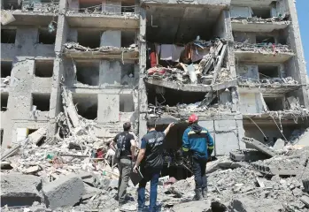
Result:
[[[81,200],[85,192],[84,184],[77,175],[59,178],[42,187],[45,204],[48,208],[73,206]]]

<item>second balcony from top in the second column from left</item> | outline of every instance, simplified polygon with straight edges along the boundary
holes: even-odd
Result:
[[[71,28],[70,31],[68,41],[64,44],[66,57],[118,59],[123,64],[126,61],[139,59],[138,46],[135,44],[135,31],[100,31],[98,29],[87,30],[87,28]],[[71,36],[72,34],[75,36]]]

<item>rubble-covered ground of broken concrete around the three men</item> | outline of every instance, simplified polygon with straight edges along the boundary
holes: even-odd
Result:
[[[95,121],[77,114],[66,87],[62,97],[64,112],[55,136],[42,142],[42,128],[3,149],[1,211],[135,211],[137,186],[132,182],[127,204],[118,206],[119,170],[109,140],[98,139]],[[193,177],[160,178],[158,211],[309,211],[309,131],[292,134],[290,143],[277,140],[272,148],[246,138],[257,150],[233,151],[207,163],[204,200],[192,201]],[[189,162],[182,162],[190,170]],[[150,185],[146,188],[148,201]]]

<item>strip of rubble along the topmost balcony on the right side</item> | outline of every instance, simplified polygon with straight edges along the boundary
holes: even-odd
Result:
[[[232,17],[232,21],[239,21],[242,22],[243,24],[248,24],[248,23],[274,23],[274,22],[283,22],[283,24],[290,24],[289,21],[289,15],[281,15],[278,17],[273,17],[270,19],[262,19],[259,17]]]

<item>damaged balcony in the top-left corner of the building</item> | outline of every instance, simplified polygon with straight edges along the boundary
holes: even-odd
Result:
[[[3,25],[52,26],[57,23],[58,0],[10,0],[4,3]]]

